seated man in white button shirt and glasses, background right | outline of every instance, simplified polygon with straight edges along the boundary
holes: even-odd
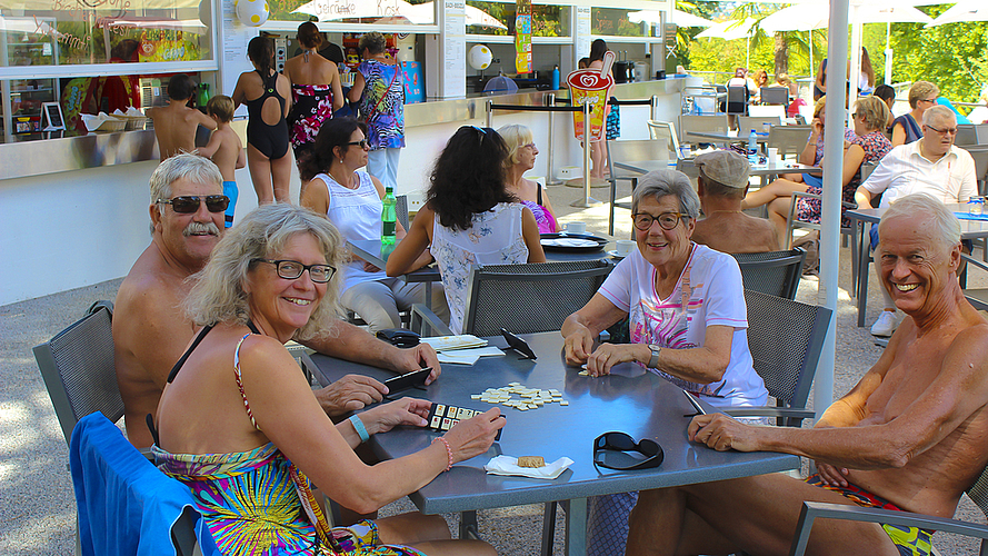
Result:
[[[944,203],[967,202],[978,195],[975,160],[954,145],[957,120],[954,112],[935,106],[922,115],[922,137],[889,151],[871,176],[858,187],[855,201],[859,208],[871,208],[876,195],[880,208],[911,193],[926,193]],[[970,241],[966,242],[970,252]],[[878,226],[871,227],[871,248],[878,245]],[[880,271],[876,265],[875,270]],[[891,336],[896,329],[896,304],[884,288],[885,310],[871,326],[875,336]]]

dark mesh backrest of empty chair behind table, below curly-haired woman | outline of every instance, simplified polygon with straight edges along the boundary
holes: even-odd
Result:
[[[610,274],[608,260],[476,266],[470,271],[463,334],[559,330]]]

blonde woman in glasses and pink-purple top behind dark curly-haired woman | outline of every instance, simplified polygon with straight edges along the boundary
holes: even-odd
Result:
[[[536,167],[539,148],[536,147],[531,130],[518,123],[509,123],[498,129],[498,135],[508,147],[508,159],[505,167],[508,173],[508,191],[531,209],[539,222],[539,234],[556,231],[556,215],[549,193],[537,181],[525,178],[525,172]]]

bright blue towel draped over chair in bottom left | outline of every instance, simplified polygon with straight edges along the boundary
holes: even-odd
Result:
[[[100,413],[76,425],[69,449],[83,556],[174,556],[171,529],[193,513],[203,556],[220,552],[189,489],[137,450]]]

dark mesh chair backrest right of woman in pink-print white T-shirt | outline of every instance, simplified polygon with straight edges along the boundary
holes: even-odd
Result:
[[[780,407],[806,407],[834,311],[745,290],[748,350],[755,371]],[[786,426],[799,426],[787,418]]]

